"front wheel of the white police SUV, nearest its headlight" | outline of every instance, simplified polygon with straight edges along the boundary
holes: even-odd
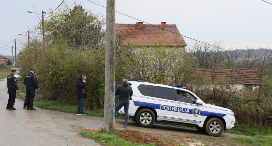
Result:
[[[204,126],[205,132],[210,136],[219,136],[224,131],[224,124],[218,118],[209,119]]]

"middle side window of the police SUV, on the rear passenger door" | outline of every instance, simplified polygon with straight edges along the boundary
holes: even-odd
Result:
[[[171,88],[156,87],[153,97],[173,100],[174,99],[173,91],[174,89]]]

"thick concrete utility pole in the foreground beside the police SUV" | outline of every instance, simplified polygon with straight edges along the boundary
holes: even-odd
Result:
[[[115,134],[115,0],[107,0],[104,129]]]

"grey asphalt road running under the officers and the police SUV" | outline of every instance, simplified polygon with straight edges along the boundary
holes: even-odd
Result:
[[[73,113],[63,113],[34,107],[36,111],[23,109],[24,101],[16,99],[17,110],[7,110],[8,94],[6,79],[0,81],[0,145],[91,145],[96,146],[95,141],[78,135],[76,129],[99,129],[103,127],[103,117],[78,116]],[[116,119],[115,128],[122,128],[124,120]],[[128,121],[128,130],[139,130],[156,135],[181,135],[189,137],[210,137],[196,129],[174,127],[154,124],[151,128],[139,127],[135,122]],[[222,133],[220,137],[237,137]]]

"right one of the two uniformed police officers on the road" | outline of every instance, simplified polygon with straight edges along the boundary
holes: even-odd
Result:
[[[31,69],[30,72],[24,77],[24,85],[26,88],[26,98],[25,98],[25,103],[24,103],[24,107],[27,107],[27,109],[29,110],[36,110],[33,108],[33,101],[34,101],[34,97],[35,97],[35,89],[39,90],[39,86],[38,86],[38,81],[34,75],[35,70]]]

